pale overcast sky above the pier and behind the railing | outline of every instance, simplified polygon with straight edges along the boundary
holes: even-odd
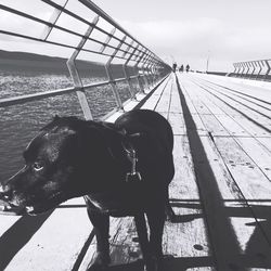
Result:
[[[271,59],[271,0],[94,2],[170,64],[175,60],[178,64],[189,63],[194,69],[205,69],[209,55],[210,70],[230,72],[233,70],[233,62]],[[41,18],[48,18],[51,14],[49,10],[39,7],[42,2],[38,0],[0,0],[0,3],[20,7],[22,11],[28,9]],[[0,12],[0,28],[2,26],[8,29],[21,27],[22,31],[30,35],[37,30],[30,25],[16,22],[10,14]],[[0,36],[0,49],[20,48],[18,42],[12,44],[7,37]],[[35,51],[31,47],[25,47],[25,50]],[[60,55],[64,51],[61,50]],[[43,52],[47,52],[46,49]]]

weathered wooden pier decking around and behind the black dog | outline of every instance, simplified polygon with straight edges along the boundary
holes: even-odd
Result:
[[[271,90],[178,74],[142,107],[175,132],[178,222],[166,222],[165,271],[271,270]],[[40,217],[1,217],[0,234],[0,270],[86,271],[95,248],[80,198]],[[112,219],[111,243],[109,270],[141,270],[132,219]]]

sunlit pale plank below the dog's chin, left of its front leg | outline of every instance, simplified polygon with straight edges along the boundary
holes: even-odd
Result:
[[[69,204],[72,205],[62,205],[54,210],[50,219],[14,256],[5,270],[64,271],[73,269],[86,240],[90,236],[92,225],[86,208],[81,207],[85,206],[82,198],[72,199]]]

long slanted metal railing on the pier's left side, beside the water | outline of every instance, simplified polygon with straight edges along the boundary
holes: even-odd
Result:
[[[20,27],[16,27],[16,24],[12,26],[13,20],[11,18],[11,22],[9,22],[10,27],[4,28],[0,25],[0,35],[12,39],[28,40],[72,50],[66,64],[74,86],[65,89],[0,99],[0,107],[76,92],[85,118],[92,119],[91,108],[86,96],[88,90],[109,85],[116,101],[116,108],[122,109],[124,103],[119,96],[117,82],[127,82],[129,96],[131,100],[134,100],[137,89],[131,83],[131,80],[137,80],[140,92],[144,93],[144,85],[151,88],[171,72],[167,63],[132,37],[90,0],[63,0],[62,3],[60,3],[60,0],[35,0],[36,3],[39,2],[41,10],[50,11],[51,16],[49,18],[35,15],[31,10],[22,10],[22,5],[20,5],[21,8],[14,8],[15,4],[12,4],[12,2],[10,1],[9,5],[0,4],[1,14],[15,16],[23,22],[22,25],[24,23],[30,25],[31,27],[29,28],[31,30],[26,29],[26,31],[22,33]],[[78,30],[75,30],[75,27],[70,27],[69,23],[63,24],[62,17],[65,17],[67,22],[73,20],[74,26],[78,25]],[[81,53],[107,57],[104,64],[107,80],[88,85],[82,82],[76,66],[78,55]],[[121,62],[125,75],[122,78],[114,78],[113,76],[113,61],[116,60]],[[130,70],[133,70],[133,75],[130,75]]]

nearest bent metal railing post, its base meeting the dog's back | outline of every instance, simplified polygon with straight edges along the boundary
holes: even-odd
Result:
[[[91,33],[94,29],[94,25],[96,25],[96,23],[99,22],[99,16],[95,16],[94,20],[92,21],[93,26],[89,26],[89,28],[87,29],[85,37],[81,39],[81,41],[79,42],[77,49],[74,51],[74,53],[72,54],[72,56],[69,57],[69,60],[67,61],[67,67],[70,74],[70,77],[74,81],[74,86],[76,88],[78,88],[78,90],[76,90],[80,106],[82,108],[83,112],[83,116],[87,120],[93,119],[90,108],[89,108],[89,104],[88,104],[88,100],[83,90],[83,85],[81,81],[81,78],[79,76],[79,73],[76,68],[75,65],[75,60],[78,56],[78,54],[80,53],[80,50],[82,49],[82,47],[85,46],[86,41],[88,40],[89,36],[91,35]]]

